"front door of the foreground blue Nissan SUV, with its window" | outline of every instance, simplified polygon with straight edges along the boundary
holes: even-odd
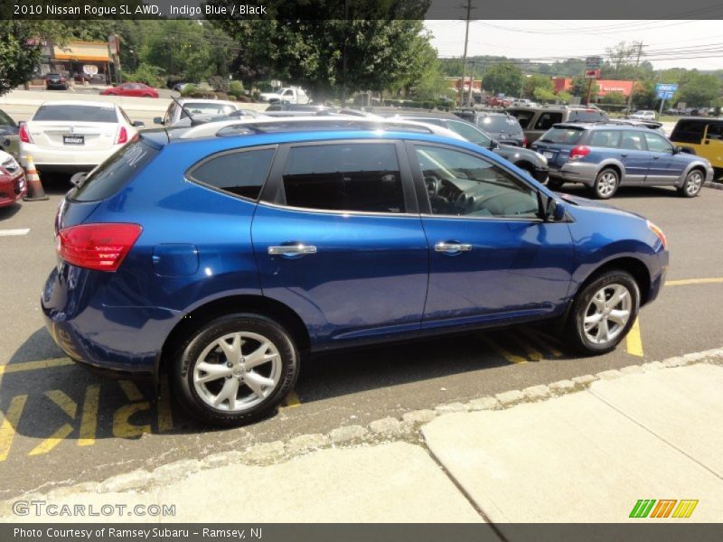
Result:
[[[539,218],[537,192],[492,161],[443,145],[408,145],[429,243],[423,328],[553,313],[568,295],[568,224]],[[426,209],[424,207],[427,207]]]

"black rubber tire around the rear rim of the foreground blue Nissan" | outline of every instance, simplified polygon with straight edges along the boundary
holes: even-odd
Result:
[[[199,392],[199,388],[197,388],[197,385],[194,383],[194,372],[196,366],[202,362],[200,356],[204,350],[211,347],[215,341],[221,340],[221,337],[237,332],[246,333],[248,335],[258,335],[267,339],[274,349],[276,349],[274,351],[277,352],[278,356],[274,356],[274,358],[279,359],[278,364],[277,361],[264,362],[258,366],[258,373],[256,373],[257,369],[249,369],[247,371],[244,371],[242,367],[229,369],[229,371],[234,371],[232,376],[226,375],[223,377],[217,377],[211,379],[208,384],[204,383],[199,385],[202,388],[203,396],[205,398],[202,397]],[[259,341],[247,338],[242,343],[243,346],[240,347],[242,349],[239,350],[241,351],[241,355],[249,356],[249,351],[244,351],[244,347],[247,347],[247,350],[253,350],[257,342],[258,346],[260,346]],[[227,344],[229,343],[227,342]],[[218,361],[218,363],[214,364],[214,366],[218,365],[221,370],[226,370],[224,366],[227,366],[230,361],[225,354],[221,353],[219,348],[220,347],[211,349],[211,352],[208,353],[207,356],[211,356]],[[264,350],[262,355],[265,356],[268,351],[269,350]],[[292,388],[294,388],[296,378],[298,378],[299,352],[291,335],[277,322],[274,322],[266,316],[261,316],[260,314],[228,314],[208,322],[202,325],[201,329],[197,332],[194,332],[192,337],[183,344],[178,352],[179,353],[176,355],[173,366],[170,369],[170,380],[174,388],[174,395],[191,416],[206,424],[219,426],[244,425],[258,420],[261,417],[268,416],[276,409],[278,404],[284,400]],[[211,358],[206,357],[204,358],[204,361],[208,362],[210,359]],[[244,360],[244,358],[241,357],[240,360]],[[268,372],[271,374],[264,374],[263,371],[268,370],[269,364],[271,365],[271,370]],[[277,383],[274,388],[268,390],[268,396],[262,393],[261,395],[263,398],[259,397],[258,394],[254,394],[252,389],[242,381],[243,378],[249,378],[249,372],[256,373],[258,376],[263,378],[276,377]],[[205,375],[211,375],[211,373],[202,373],[201,378],[205,378]],[[250,396],[260,399],[258,404],[244,407],[239,410],[232,410],[229,399],[228,405],[225,407],[222,406],[223,401],[221,402],[221,406],[212,406],[211,386],[215,386],[216,389],[223,388],[225,387],[227,379],[239,382],[239,384],[236,384],[237,390],[234,392],[234,403],[239,401],[239,396],[241,398],[246,398],[245,396],[249,394],[245,392],[248,390]],[[262,390],[262,392],[264,391],[265,390]],[[217,393],[217,397],[220,396],[221,390]]]

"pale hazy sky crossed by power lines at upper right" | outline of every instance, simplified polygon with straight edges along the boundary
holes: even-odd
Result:
[[[465,21],[426,21],[442,58],[461,57]],[[723,70],[721,21],[472,21],[467,55],[509,58],[605,57],[619,42],[643,42],[642,60],[656,70]]]

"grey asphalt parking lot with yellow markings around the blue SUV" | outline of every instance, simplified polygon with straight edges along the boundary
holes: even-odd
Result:
[[[723,191],[688,200],[669,189],[622,189],[612,203],[662,227],[671,268],[658,301],[614,352],[577,358],[539,329],[518,327],[335,353],[305,362],[275,416],[213,430],[185,416],[164,386],[156,397],[149,384],[96,377],[55,346],[39,297],[69,184],[67,176],[43,182],[50,201],[0,209],[0,499],[723,344]]]

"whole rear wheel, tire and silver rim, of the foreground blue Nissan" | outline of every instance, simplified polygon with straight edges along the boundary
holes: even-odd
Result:
[[[294,387],[299,354],[286,330],[259,314],[206,323],[174,362],[176,396],[193,417],[242,425],[268,415]]]

